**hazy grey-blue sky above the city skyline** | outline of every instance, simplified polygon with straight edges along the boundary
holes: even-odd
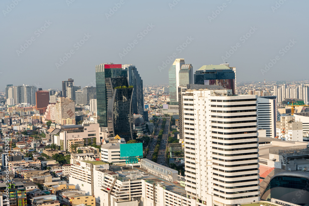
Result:
[[[110,62],[136,65],[144,85],[163,84],[175,58],[195,70],[226,61],[238,81],[307,79],[308,6],[306,0],[1,0],[0,90],[60,88],[68,78],[95,86],[95,65]]]

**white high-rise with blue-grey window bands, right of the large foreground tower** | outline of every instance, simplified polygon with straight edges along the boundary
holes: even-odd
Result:
[[[277,101],[276,96],[257,98],[258,127],[266,130],[266,137],[276,137]]]

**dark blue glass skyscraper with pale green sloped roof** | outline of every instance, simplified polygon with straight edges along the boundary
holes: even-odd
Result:
[[[223,88],[231,89],[235,95],[236,80],[233,68],[226,65],[204,65],[195,71],[194,84],[223,86]]]

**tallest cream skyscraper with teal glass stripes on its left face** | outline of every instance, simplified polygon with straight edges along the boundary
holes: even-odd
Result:
[[[184,59],[176,59],[168,70],[169,96],[171,102],[178,102],[179,71]]]

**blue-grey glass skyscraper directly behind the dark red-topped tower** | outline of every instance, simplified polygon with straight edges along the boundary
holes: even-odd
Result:
[[[132,107],[134,114],[144,114],[144,92],[143,92],[143,80],[138,74],[135,65],[122,65],[123,69],[128,72],[129,85],[133,86],[133,99]]]

